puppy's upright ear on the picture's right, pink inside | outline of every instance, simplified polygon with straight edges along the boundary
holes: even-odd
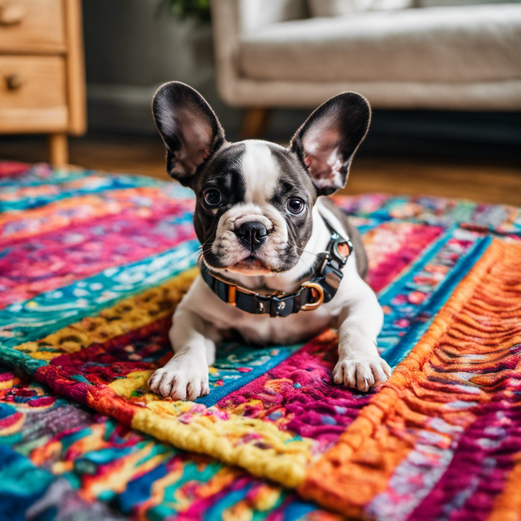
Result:
[[[345,186],[351,159],[370,119],[366,98],[343,92],[320,105],[295,132],[290,148],[303,159],[318,195],[330,195]]]

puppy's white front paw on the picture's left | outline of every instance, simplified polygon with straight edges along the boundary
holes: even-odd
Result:
[[[174,356],[148,379],[148,386],[160,396],[174,400],[196,400],[210,392],[206,361],[189,354]]]

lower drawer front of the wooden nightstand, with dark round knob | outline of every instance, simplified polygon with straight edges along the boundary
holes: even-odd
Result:
[[[65,58],[0,56],[0,132],[67,128]]]

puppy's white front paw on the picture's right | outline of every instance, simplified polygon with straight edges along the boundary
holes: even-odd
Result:
[[[344,386],[368,391],[376,383],[387,381],[391,376],[389,364],[379,356],[359,356],[339,360],[333,369],[333,381]]]

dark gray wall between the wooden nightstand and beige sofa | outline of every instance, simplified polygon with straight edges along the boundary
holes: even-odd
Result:
[[[165,81],[179,80],[237,130],[240,111],[225,106],[215,89],[209,26],[158,13],[158,0],[88,0],[83,17],[91,129],[155,132],[152,96]]]

